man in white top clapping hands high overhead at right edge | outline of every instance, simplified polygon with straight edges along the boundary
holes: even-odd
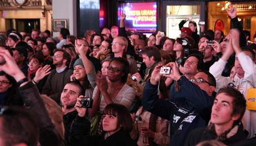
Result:
[[[229,34],[225,38],[228,43],[226,50],[217,62],[215,62],[210,67],[211,74],[214,75],[217,87],[219,88],[230,85],[237,88],[246,97],[247,89],[256,86],[256,65],[254,64],[255,53],[254,51],[247,49],[242,50],[239,46],[239,31],[237,29],[231,29]],[[224,70],[225,64],[227,64],[228,59],[234,53],[235,58],[235,75],[234,79],[229,77],[221,76],[221,72]],[[245,129],[249,132],[249,137],[253,137],[256,134],[256,119],[255,111],[245,111]]]

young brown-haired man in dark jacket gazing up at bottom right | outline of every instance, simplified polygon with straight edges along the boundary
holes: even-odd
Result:
[[[211,108],[208,127],[190,132],[185,145],[196,145],[205,140],[216,139],[226,145],[233,145],[246,139],[241,120],[246,107],[242,93],[233,87],[219,90]]]

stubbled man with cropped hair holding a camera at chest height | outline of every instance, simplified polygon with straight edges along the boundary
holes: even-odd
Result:
[[[90,134],[90,130],[85,132],[80,131],[80,129],[73,129],[73,127],[90,129],[90,121],[85,117],[86,108],[81,107],[79,104],[84,93],[83,87],[75,81],[68,82],[61,93],[61,106],[64,113],[63,123],[67,145],[80,145],[83,142],[81,139],[88,137]]]

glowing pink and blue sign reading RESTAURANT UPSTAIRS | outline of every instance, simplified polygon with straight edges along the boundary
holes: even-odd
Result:
[[[133,32],[156,31],[156,2],[121,3],[118,15],[126,14],[125,27]]]

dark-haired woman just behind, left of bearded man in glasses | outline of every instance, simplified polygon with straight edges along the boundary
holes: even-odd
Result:
[[[56,49],[56,46],[53,43],[48,43],[46,42],[45,44],[43,44],[42,47],[42,54],[45,58],[45,64],[51,65],[52,69],[53,69],[53,50]]]

